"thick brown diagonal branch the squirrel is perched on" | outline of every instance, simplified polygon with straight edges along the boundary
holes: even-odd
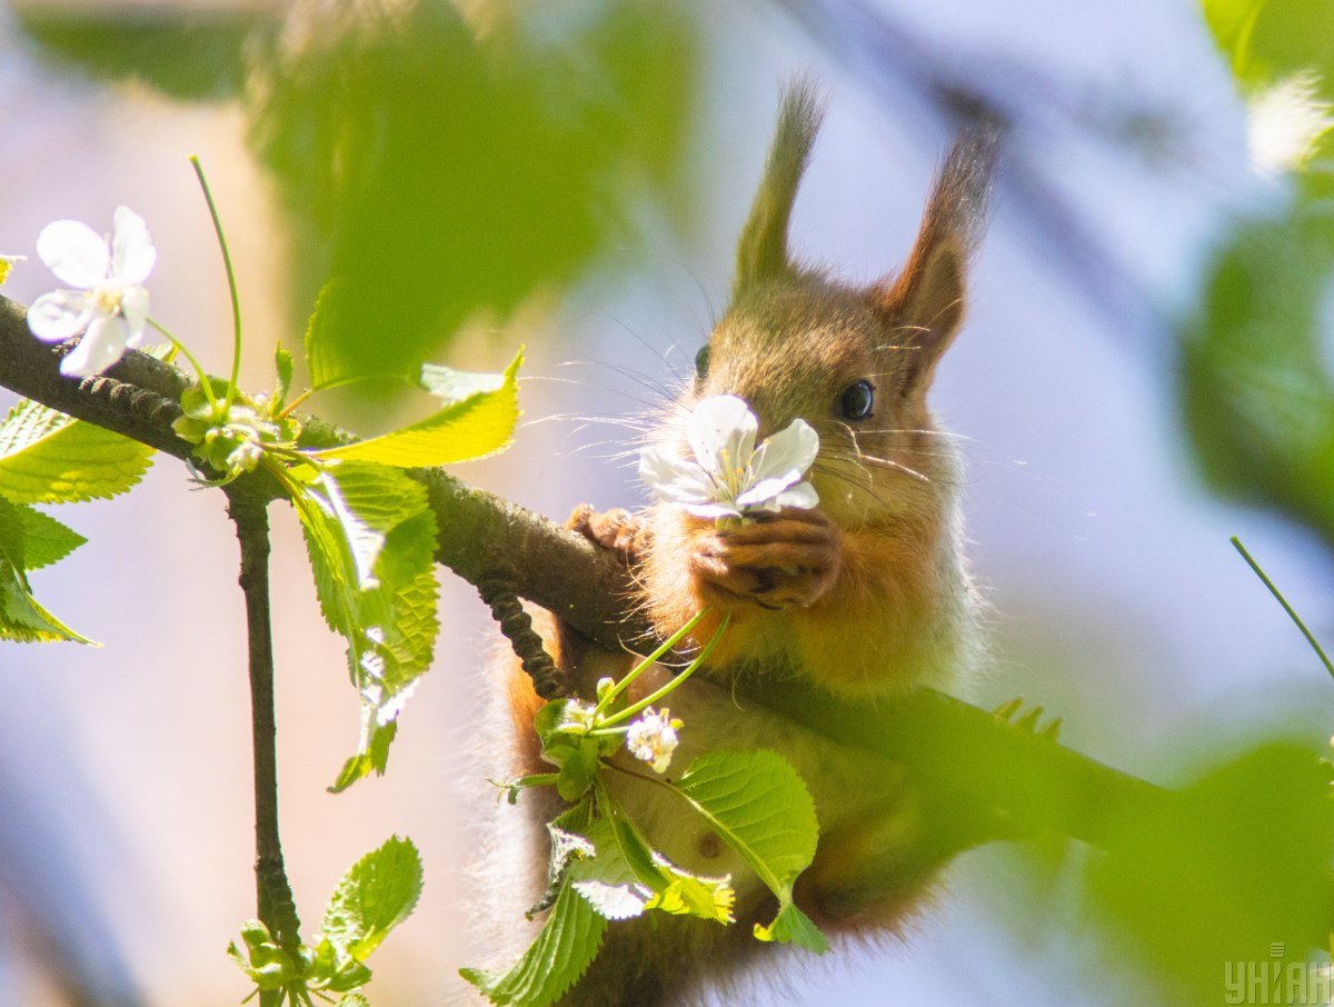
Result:
[[[0,385],[52,408],[184,459],[189,444],[171,431],[188,379],[129,352],[107,377],[73,381],[59,373],[68,347],[47,347],[28,332],[24,309],[0,297]],[[303,419],[303,443],[343,443],[347,433]],[[640,650],[652,638],[634,614],[627,571],[546,518],[439,471],[412,473],[426,485],[440,527],[436,559],[480,584],[500,574],[515,592],[551,610],[607,647]],[[233,484],[252,499],[279,496],[263,473]],[[1014,832],[1058,831],[1095,846],[1114,842],[1115,820],[1151,814],[1174,795],[1087,756],[999,722],[950,696],[923,690],[892,703],[840,703],[802,683],[752,682],[742,699],[791,716],[828,738],[895,759],[927,792],[970,807],[995,808]]]

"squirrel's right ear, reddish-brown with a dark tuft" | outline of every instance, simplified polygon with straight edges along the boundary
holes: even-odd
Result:
[[[987,121],[954,144],[936,176],[903,272],[871,288],[896,344],[910,353],[907,387],[924,389],[964,313],[968,257],[986,227],[1000,128]]]

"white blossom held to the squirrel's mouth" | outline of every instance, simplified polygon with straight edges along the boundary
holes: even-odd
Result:
[[[735,395],[702,399],[686,420],[694,460],[651,445],[639,455],[639,477],[699,518],[815,507],[815,487],[800,480],[819,453],[819,435],[796,419],[756,448],[758,429],[755,413]]]

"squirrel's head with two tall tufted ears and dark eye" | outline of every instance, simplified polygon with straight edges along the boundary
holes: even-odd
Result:
[[[904,267],[850,287],[794,263],[792,200],[820,121],[788,89],[736,256],[732,304],[696,356],[691,397],[736,395],[760,437],[800,416],[820,436],[812,481],[844,526],[920,514],[954,477],[926,393],[963,321],[967,259],[982,231],[994,129],[964,135],[927,201]]]

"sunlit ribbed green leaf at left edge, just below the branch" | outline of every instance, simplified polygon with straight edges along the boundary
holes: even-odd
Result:
[[[73,503],[123,493],[153,449],[23,400],[0,424],[0,493],[15,503]]]

